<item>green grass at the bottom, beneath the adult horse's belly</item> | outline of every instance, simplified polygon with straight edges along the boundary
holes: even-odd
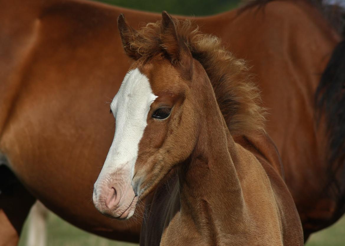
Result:
[[[25,246],[27,237],[27,223],[24,225],[19,246]],[[53,213],[48,217],[48,246],[135,246],[137,244],[108,240],[85,231],[61,220]],[[311,236],[307,246],[344,246],[345,245],[345,217],[336,224]]]

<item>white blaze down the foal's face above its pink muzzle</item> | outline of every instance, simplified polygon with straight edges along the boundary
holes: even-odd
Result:
[[[147,125],[150,105],[156,98],[148,78],[138,68],[126,74],[110,105],[116,120],[115,136],[98,180],[121,168],[128,168],[133,178],[139,142]]]

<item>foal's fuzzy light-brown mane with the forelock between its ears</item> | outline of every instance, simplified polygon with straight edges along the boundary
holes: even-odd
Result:
[[[230,132],[264,131],[265,110],[260,106],[259,90],[252,82],[245,61],[236,59],[216,36],[198,31],[190,20],[173,20],[178,39],[187,45],[193,58],[204,67]],[[124,49],[135,51],[132,57],[146,60],[165,54],[169,43],[163,41],[161,26],[162,22],[157,21],[138,31],[131,29],[133,36],[130,42],[124,44]],[[171,62],[175,64],[177,61],[173,57]]]

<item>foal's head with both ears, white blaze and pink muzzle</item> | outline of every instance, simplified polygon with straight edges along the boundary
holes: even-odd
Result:
[[[178,34],[176,25],[189,22],[163,12],[162,21],[137,32],[123,15],[118,19],[122,44],[134,63],[110,105],[115,136],[94,186],[93,202],[107,216],[133,215],[138,197],[143,199],[191,155],[201,121],[216,114],[224,124],[208,72],[193,58],[198,54],[191,54],[188,40],[181,39],[183,30],[199,34],[183,27]]]

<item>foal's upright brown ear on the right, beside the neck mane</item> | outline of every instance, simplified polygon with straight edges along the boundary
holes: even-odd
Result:
[[[162,12],[160,30],[162,47],[170,57],[171,63],[178,63],[191,76],[193,72],[193,57],[186,43],[178,36],[174,20],[168,12]]]

